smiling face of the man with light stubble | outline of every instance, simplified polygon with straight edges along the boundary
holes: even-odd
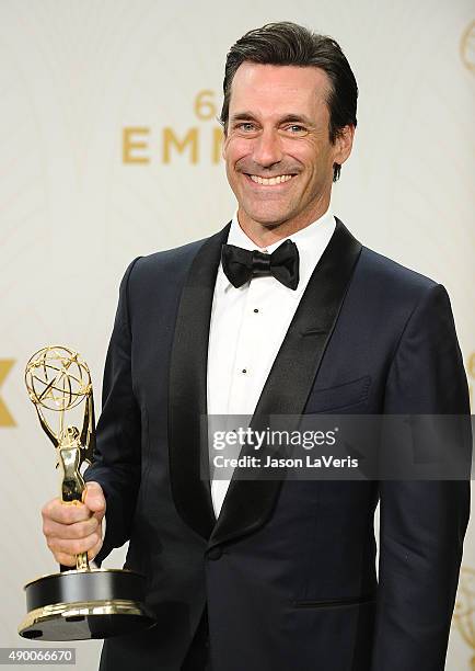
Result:
[[[328,90],[315,67],[238,68],[223,158],[242,226],[298,230],[326,211],[333,164],[346,160],[352,140],[349,128],[346,139],[329,141]]]

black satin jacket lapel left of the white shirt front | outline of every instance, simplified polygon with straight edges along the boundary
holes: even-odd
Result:
[[[209,238],[193,260],[179,300],[169,386],[169,455],[173,499],[183,520],[205,538],[216,523],[208,451],[201,450],[201,416],[207,411],[208,337],[221,246],[229,225]],[[200,463],[200,459],[202,464]]]

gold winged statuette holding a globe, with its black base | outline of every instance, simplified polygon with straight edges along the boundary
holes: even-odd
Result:
[[[95,443],[88,365],[69,348],[44,348],[26,364],[25,383],[42,429],[56,448],[61,501],[77,505],[85,490],[80,469],[91,464]],[[67,413],[79,416],[81,431],[66,422]],[[56,419],[56,431],[49,416]],[[27,615],[19,627],[24,638],[108,638],[155,623],[144,605],[144,577],[129,570],[90,568],[86,553],[77,556],[76,569],[43,576],[24,589]]]

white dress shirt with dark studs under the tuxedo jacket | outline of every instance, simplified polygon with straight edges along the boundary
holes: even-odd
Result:
[[[277,352],[309,280],[335,230],[326,213],[288,239],[299,250],[300,280],[296,291],[271,275],[253,277],[235,288],[219,266],[211,308],[208,345],[208,414],[252,416]],[[287,238],[285,238],[287,239]],[[234,215],[229,244],[273,253],[283,241],[258,248],[242,230]],[[211,480],[218,518],[230,480]]]

